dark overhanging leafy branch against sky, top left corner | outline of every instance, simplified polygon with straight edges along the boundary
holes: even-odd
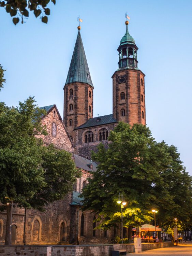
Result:
[[[47,8],[49,2],[56,4],[56,0],[0,0],[0,7],[4,7],[7,13],[10,13],[13,18],[13,23],[16,25],[21,18],[21,23],[24,23],[24,17],[29,17],[29,11],[33,11],[35,17],[41,18],[42,22],[48,22],[50,9]]]

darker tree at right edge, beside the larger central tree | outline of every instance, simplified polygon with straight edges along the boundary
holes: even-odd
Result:
[[[192,177],[182,166],[177,148],[165,143],[164,148],[170,156],[170,162],[168,165],[162,163],[164,171],[159,175],[163,182],[157,183],[153,190],[159,210],[158,223],[167,227],[167,223],[170,226],[177,218],[183,227],[189,227],[192,225]]]

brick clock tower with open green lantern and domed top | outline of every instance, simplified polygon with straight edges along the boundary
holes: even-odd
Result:
[[[145,74],[137,68],[138,47],[129,34],[128,24],[126,21],[126,32],[117,49],[119,68],[112,76],[113,117],[130,125],[145,125]]]

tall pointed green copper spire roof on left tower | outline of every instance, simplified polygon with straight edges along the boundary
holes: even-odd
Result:
[[[93,87],[80,31],[78,31],[77,34],[77,40],[65,84],[74,82],[86,83]]]

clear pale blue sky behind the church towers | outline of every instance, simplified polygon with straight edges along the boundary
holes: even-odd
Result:
[[[16,106],[29,95],[39,106],[56,104],[63,116],[63,87],[77,37],[81,35],[94,85],[94,116],[112,113],[112,78],[117,48],[129,32],[138,46],[145,77],[146,118],[153,137],[175,145],[192,175],[192,1],[57,0],[43,24],[32,13],[14,26],[0,8],[0,63],[6,85],[0,100]]]

